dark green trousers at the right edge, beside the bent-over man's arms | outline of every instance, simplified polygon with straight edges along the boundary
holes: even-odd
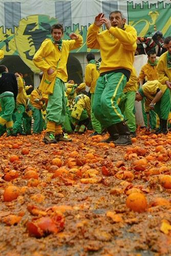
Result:
[[[155,111],[160,119],[167,120],[171,108],[170,90],[167,88],[159,102],[155,105]]]

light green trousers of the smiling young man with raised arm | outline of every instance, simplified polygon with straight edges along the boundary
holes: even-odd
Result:
[[[49,95],[47,120],[56,125],[63,125],[66,118],[65,84],[56,78],[53,94]]]

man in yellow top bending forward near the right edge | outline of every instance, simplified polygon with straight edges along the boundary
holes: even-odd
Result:
[[[143,97],[147,116],[150,109],[159,115],[160,128],[156,133],[167,133],[167,119],[171,107],[169,89],[157,80],[148,81],[136,92],[136,101],[141,101]],[[149,117],[147,120],[149,126]]]

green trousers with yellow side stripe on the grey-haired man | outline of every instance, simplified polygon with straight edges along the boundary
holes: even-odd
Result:
[[[118,107],[120,95],[126,85],[122,73],[109,73],[99,76],[94,94],[93,112],[102,127],[119,123],[124,116]]]

